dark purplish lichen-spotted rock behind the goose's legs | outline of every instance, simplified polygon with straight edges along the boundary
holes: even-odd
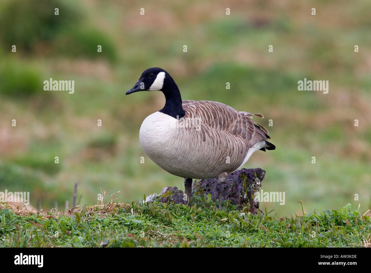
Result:
[[[254,199],[254,194],[259,191],[264,176],[265,170],[260,168],[236,170],[228,176],[224,184],[224,200],[230,199],[233,205],[249,204],[249,212],[256,214],[259,211],[259,201]],[[194,180],[192,195],[211,194],[211,199],[216,201],[218,199],[217,181],[217,178]],[[162,203],[174,201],[175,204],[187,204],[183,191],[178,190],[177,187],[165,187],[160,195],[147,196],[145,202],[153,202],[157,198],[160,198]]]

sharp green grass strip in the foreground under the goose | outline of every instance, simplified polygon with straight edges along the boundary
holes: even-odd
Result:
[[[0,247],[362,247],[370,240],[370,216],[352,211],[350,204],[278,219],[229,202],[219,211],[206,195],[194,200],[191,208],[158,201],[111,203],[71,216],[20,216],[3,203]]]

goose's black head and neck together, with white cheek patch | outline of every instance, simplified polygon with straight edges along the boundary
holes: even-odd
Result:
[[[185,112],[182,108],[182,98],[178,86],[164,69],[152,67],[144,70],[138,82],[126,92],[126,95],[138,91],[162,91],[166,103],[160,112],[174,118],[184,117]]]

